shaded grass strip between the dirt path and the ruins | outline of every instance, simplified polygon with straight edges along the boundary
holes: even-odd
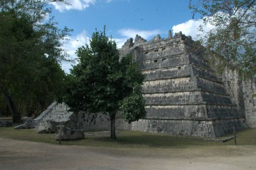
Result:
[[[55,134],[37,134],[34,129],[15,130],[13,127],[1,127],[0,137],[58,144]],[[237,145],[256,145],[256,128],[248,128],[237,132]],[[104,132],[86,132],[84,139],[62,141],[61,144],[77,146],[97,146],[103,148],[186,148],[188,146],[227,146],[234,145],[234,140],[227,143],[203,141],[186,136],[153,134],[118,130],[118,139],[109,139]]]

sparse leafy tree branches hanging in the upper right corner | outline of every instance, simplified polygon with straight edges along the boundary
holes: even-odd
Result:
[[[190,0],[189,8],[214,26],[200,37],[212,61],[221,59],[218,70],[228,66],[245,77],[256,77],[256,1]]]

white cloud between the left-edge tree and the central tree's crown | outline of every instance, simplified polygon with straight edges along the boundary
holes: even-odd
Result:
[[[90,38],[87,36],[86,31],[82,31],[79,35],[76,35],[75,37],[67,37],[69,40],[63,43],[63,49],[67,52],[67,54],[70,55],[70,59],[76,59],[76,50],[79,47],[82,47],[86,43],[89,43]],[[69,69],[72,68],[72,63],[64,61],[61,63],[62,69],[65,70],[65,72],[69,73]],[[73,63],[74,64],[74,63]]]

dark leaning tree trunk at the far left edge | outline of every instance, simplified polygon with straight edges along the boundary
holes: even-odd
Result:
[[[3,94],[4,94],[4,98],[6,100],[6,103],[8,104],[8,108],[12,114],[13,123],[21,123],[22,121],[21,121],[20,113],[18,112],[18,110],[12,100],[12,97],[10,97],[8,89],[4,88]]]

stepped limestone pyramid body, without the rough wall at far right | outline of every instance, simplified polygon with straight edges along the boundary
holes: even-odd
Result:
[[[118,128],[205,137],[230,133],[233,125],[246,128],[244,114],[204,59],[204,48],[195,50],[193,43],[178,33],[127,50],[146,77],[142,91],[147,118],[130,125],[118,119]]]

